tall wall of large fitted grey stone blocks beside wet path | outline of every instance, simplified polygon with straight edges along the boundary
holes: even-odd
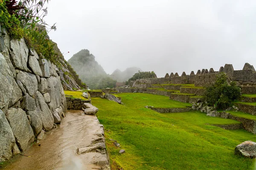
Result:
[[[0,28],[0,162],[60,123],[66,109],[57,66]]]

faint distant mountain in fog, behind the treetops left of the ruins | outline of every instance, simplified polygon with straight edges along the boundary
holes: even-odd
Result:
[[[125,82],[138,71],[142,70],[137,67],[126,68],[125,71],[120,71],[119,69],[116,69],[110,76],[117,82]]]

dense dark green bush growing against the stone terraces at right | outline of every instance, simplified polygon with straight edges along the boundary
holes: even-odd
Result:
[[[215,105],[217,109],[225,109],[230,107],[232,101],[238,99],[240,95],[240,88],[234,82],[229,85],[227,75],[221,73],[218,75],[215,84],[206,88],[204,98],[208,105]]]

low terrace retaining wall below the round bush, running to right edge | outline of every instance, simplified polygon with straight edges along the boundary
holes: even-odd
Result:
[[[208,115],[213,117],[222,117],[225,119],[233,119],[236,121],[239,121],[243,124],[243,128],[253,134],[256,134],[256,121],[252,119],[246,119],[238,116],[233,116],[230,113],[227,112],[216,112],[215,114]]]

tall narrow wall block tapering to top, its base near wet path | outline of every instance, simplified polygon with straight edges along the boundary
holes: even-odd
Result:
[[[46,102],[44,102],[44,96],[39,91],[36,92],[35,104],[35,112],[38,114],[42,121],[43,129],[45,131],[51,130],[54,124],[52,112],[50,111]]]

